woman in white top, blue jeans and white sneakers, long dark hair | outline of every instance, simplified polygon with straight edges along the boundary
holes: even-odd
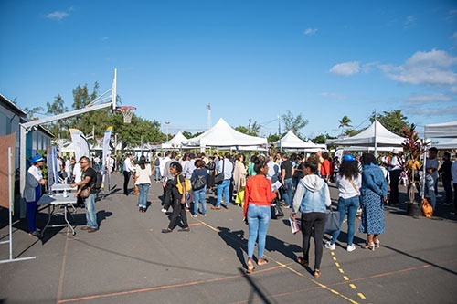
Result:
[[[358,171],[357,160],[352,154],[343,156],[343,163],[336,174],[336,186],[338,187],[338,212],[340,213],[340,229],[335,230],[332,239],[325,243],[325,248],[335,250],[335,243],[340,235],[341,225],[347,213],[347,251],[356,250],[353,244],[356,231],[356,213],[360,199],[360,185],[362,176]]]

